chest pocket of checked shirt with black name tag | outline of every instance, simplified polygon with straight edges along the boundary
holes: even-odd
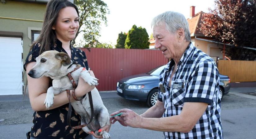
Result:
[[[172,84],[182,83],[182,88],[172,89],[172,104],[174,106],[183,107],[184,98],[186,95],[186,82],[184,79],[175,79]]]

